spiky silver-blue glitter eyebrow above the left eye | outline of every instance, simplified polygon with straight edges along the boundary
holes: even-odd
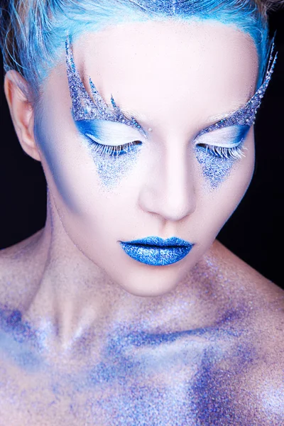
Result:
[[[75,65],[74,56],[70,39],[67,37],[65,42],[67,78],[69,83],[70,95],[72,99],[72,111],[75,121],[101,119],[104,121],[113,121],[116,123],[126,124],[133,129],[140,131],[144,137],[147,137],[145,129],[138,123],[129,111],[123,111],[114,101],[111,95],[111,107],[104,102],[99,94],[97,87],[89,77],[89,86],[92,92],[92,98],[89,96],[87,89],[81,80],[80,73]]]

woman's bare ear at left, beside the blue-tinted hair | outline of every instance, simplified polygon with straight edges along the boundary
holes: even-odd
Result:
[[[33,103],[28,96],[28,94],[31,93],[31,87],[17,71],[9,70],[5,76],[4,90],[13,126],[23,151],[35,160],[40,161],[40,155],[35,144],[33,133]]]

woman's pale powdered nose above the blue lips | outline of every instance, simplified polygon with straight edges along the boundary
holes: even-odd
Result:
[[[139,194],[144,211],[168,221],[180,221],[196,208],[192,158],[186,147],[175,145],[153,158]]]

